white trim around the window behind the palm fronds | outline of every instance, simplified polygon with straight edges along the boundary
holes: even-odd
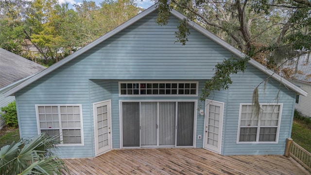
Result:
[[[84,146],[84,132],[83,132],[83,115],[82,115],[82,105],[81,104],[48,104],[48,105],[35,105],[35,114],[36,114],[36,120],[37,120],[37,131],[38,134],[41,134],[41,128],[40,128],[40,119],[39,119],[39,106],[79,106],[80,107],[80,123],[81,123],[81,143],[79,144],[57,144],[56,146]],[[60,120],[60,110],[58,111],[59,115],[59,124],[61,126],[61,120]],[[60,127],[62,129],[62,127]],[[60,132],[61,133],[61,132]],[[61,137],[61,136],[60,136]]]

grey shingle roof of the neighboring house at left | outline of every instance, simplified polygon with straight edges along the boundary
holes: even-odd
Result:
[[[0,89],[44,69],[44,66],[0,48]]]

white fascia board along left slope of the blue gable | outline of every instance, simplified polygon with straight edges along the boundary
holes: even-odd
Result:
[[[6,91],[5,93],[3,93],[4,97],[13,95],[15,92],[21,90],[22,88],[25,88],[26,86],[34,83],[36,80],[38,80],[39,78],[51,73],[52,71],[58,69],[59,67],[63,66],[64,64],[68,63],[69,61],[71,61],[72,59],[76,58],[77,56],[85,53],[86,51],[90,50],[91,48],[95,47],[96,45],[100,44],[101,42],[103,42],[104,40],[110,38],[111,36],[119,33],[120,31],[122,31],[123,29],[127,28],[128,26],[132,25],[133,23],[137,22],[139,19],[144,18],[145,16],[149,15],[150,13],[154,12],[156,10],[155,8],[156,5],[153,5],[151,7],[149,7],[148,9],[142,11],[141,13],[139,13],[138,15],[136,15],[135,17],[127,20],[126,22],[122,23],[121,25],[119,25],[118,27],[116,27],[115,29],[113,29],[112,31],[108,32],[107,34],[99,37],[98,39],[94,40],[93,42],[89,43],[88,45],[86,45],[85,47],[81,48],[80,50],[78,50],[75,53],[72,53],[71,55],[67,56],[66,58],[60,60],[59,62],[53,64],[51,67],[42,70],[40,73],[36,74],[35,76],[29,78],[28,80],[26,80],[25,82],[17,85],[16,87]]]

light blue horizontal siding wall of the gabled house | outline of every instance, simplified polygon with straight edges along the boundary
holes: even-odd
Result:
[[[171,17],[166,26],[155,23],[153,13],[86,53],[63,65],[52,73],[16,93],[21,137],[37,135],[35,105],[82,104],[84,146],[59,147],[61,157],[94,157],[93,103],[111,99],[112,146],[120,148],[119,100],[138,100],[146,97],[119,97],[119,81],[199,81],[212,77],[213,68],[232,53],[206,36],[190,28],[185,46],[174,43],[174,32],[179,21]],[[66,59],[66,58],[65,58]],[[289,137],[291,113],[295,93],[276,81],[269,81],[260,102],[271,102],[280,89],[280,102],[284,103],[282,137],[279,144],[269,148],[263,144],[236,144],[239,105],[251,103],[252,90],[267,77],[249,65],[244,74],[233,76],[233,85],[210,95],[210,99],[225,103],[222,154],[283,154],[285,138]],[[198,97],[152,97],[150,100],[198,100]],[[198,107],[205,106],[198,102]],[[204,107],[202,108],[204,109]],[[283,121],[283,118],[284,121]],[[197,116],[196,135],[204,135],[204,118]],[[197,137],[196,137],[197,138]],[[203,147],[203,140],[196,140],[196,147]],[[258,150],[245,152],[245,150]],[[267,149],[269,149],[267,151]]]

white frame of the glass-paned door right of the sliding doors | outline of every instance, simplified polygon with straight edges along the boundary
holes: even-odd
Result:
[[[217,147],[207,144],[207,133],[208,133],[208,119],[209,119],[209,105],[216,105],[220,107],[220,116],[219,116],[219,127],[218,127],[218,144]],[[214,100],[205,100],[205,120],[204,120],[204,148],[213,151],[215,153],[221,154],[222,147],[222,135],[223,135],[223,119],[224,119],[224,105],[223,102],[218,102]]]

